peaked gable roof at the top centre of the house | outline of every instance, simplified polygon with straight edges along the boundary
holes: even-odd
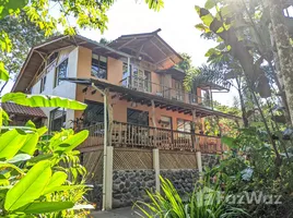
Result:
[[[157,70],[166,70],[180,62],[183,58],[157,35],[159,32],[161,28],[151,33],[122,35],[108,46],[155,64],[159,66]]]

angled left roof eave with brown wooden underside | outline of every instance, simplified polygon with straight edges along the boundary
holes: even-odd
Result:
[[[130,58],[128,53],[116,50],[108,46],[101,45],[94,40],[80,35],[75,36],[57,36],[33,47],[26,57],[26,60],[19,73],[19,76],[12,87],[12,92],[27,92],[27,88],[35,74],[40,68],[43,61],[52,52],[59,51],[69,47],[82,46],[93,50],[94,53],[105,55],[116,59]]]

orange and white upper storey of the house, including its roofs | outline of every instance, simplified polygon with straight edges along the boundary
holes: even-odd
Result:
[[[183,85],[186,74],[175,68],[181,60],[157,32],[124,35],[107,46],[82,36],[59,36],[31,50],[12,92],[77,99],[75,84],[61,78],[95,78],[171,100],[212,108],[211,90],[228,90],[230,84],[197,84],[186,92]]]

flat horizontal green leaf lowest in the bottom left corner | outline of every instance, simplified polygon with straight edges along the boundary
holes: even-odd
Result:
[[[45,214],[70,209],[74,206],[72,202],[34,202],[28,206],[19,208],[17,211],[25,214]]]

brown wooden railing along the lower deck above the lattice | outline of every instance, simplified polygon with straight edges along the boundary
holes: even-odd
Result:
[[[102,146],[104,144],[104,123],[84,128],[90,131],[84,147]],[[167,129],[130,123],[114,122],[109,141],[113,146],[159,148],[171,150],[201,150],[202,153],[221,153],[225,147],[216,136],[201,135]]]

